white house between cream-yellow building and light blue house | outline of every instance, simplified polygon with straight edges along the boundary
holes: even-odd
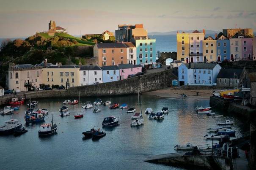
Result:
[[[82,65],[79,69],[79,85],[91,85],[96,82],[103,83],[102,68],[97,65]]]

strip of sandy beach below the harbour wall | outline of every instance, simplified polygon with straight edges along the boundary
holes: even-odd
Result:
[[[165,98],[177,98],[182,99],[182,94],[187,94],[187,99],[209,99],[212,96],[213,89],[203,89],[203,90],[185,90],[185,89],[175,89],[175,88],[165,88],[152,92],[146,92],[144,94],[154,95],[157,97]],[[196,95],[198,92],[198,96]]]

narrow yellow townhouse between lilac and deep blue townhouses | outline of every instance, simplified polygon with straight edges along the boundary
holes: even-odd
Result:
[[[203,42],[204,62],[217,61],[216,40],[211,36],[206,37]]]

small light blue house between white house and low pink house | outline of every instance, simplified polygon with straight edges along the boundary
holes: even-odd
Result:
[[[102,80],[103,83],[110,81],[118,81],[120,77],[119,68],[117,65],[103,66],[102,67]]]

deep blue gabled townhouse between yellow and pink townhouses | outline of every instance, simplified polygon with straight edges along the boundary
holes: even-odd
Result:
[[[230,41],[221,35],[217,39],[217,61],[230,60]]]

